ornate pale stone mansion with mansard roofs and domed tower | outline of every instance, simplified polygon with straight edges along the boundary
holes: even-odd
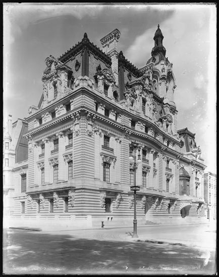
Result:
[[[118,29],[110,32],[99,49],[85,33],[59,58],[45,59],[42,96],[19,133],[28,159],[4,164],[12,176],[14,202],[7,209],[13,223],[132,223],[134,142],[141,159],[138,223],[206,220],[206,166],[195,134],[177,128],[176,80],[161,30],[140,69],[119,52],[120,36]],[[6,135],[4,149],[6,160]]]

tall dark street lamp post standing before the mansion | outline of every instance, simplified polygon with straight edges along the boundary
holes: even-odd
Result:
[[[130,159],[130,161],[134,161],[134,163],[133,163],[133,171],[134,171],[134,176],[133,176],[133,178],[134,178],[133,181],[134,182],[133,182],[133,184],[134,185],[130,186],[131,190],[134,191],[134,220],[133,220],[133,236],[132,236],[133,238],[138,238],[138,235],[137,235],[137,217],[136,217],[136,190],[139,190],[140,186],[136,186],[136,170],[138,168],[138,164],[136,162],[137,149],[138,149],[138,163],[140,163],[141,162],[140,146],[136,142],[132,143],[131,149],[130,149],[129,159]]]

